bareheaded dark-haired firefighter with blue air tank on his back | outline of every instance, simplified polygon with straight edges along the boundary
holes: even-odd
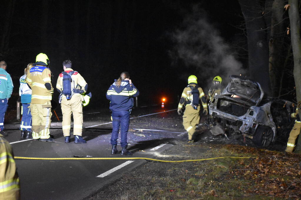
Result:
[[[59,102],[63,113],[63,134],[65,143],[70,142],[71,113],[73,114],[74,143],[86,143],[82,138],[82,94],[87,92],[88,84],[82,76],[72,69],[70,60],[63,62],[63,69],[58,78],[56,88],[60,94]]]

